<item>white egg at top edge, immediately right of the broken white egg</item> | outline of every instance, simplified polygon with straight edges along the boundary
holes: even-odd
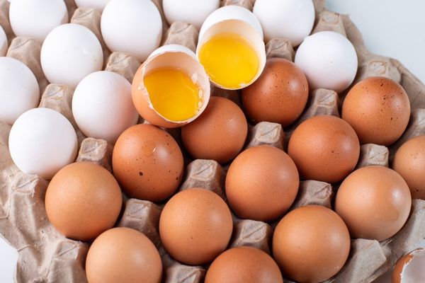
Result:
[[[312,0],[256,0],[253,12],[266,41],[283,37],[297,46],[310,35],[314,24]]]

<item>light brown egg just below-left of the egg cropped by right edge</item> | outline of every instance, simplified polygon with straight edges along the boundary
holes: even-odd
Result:
[[[335,211],[353,238],[378,241],[402,229],[411,206],[412,197],[402,176],[383,166],[366,166],[348,175],[335,200]]]

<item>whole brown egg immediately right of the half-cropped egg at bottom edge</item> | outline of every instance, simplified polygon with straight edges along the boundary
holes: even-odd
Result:
[[[350,252],[350,234],[334,211],[307,205],[289,212],[273,233],[273,256],[283,275],[300,283],[336,275]]]

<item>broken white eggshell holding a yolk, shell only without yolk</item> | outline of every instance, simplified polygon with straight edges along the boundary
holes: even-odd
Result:
[[[222,33],[234,33],[244,37],[256,52],[259,59],[259,69],[254,78],[247,84],[239,86],[239,88],[229,88],[221,86],[212,81],[215,86],[223,89],[240,89],[249,86],[259,78],[266,66],[266,46],[263,41],[263,30],[259,20],[254,16],[254,13],[242,6],[229,5],[219,8],[212,12],[206,18],[199,32],[198,47],[196,55],[199,59],[200,50],[211,37]]]

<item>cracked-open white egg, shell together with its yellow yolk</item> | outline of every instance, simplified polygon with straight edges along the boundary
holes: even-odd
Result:
[[[230,90],[249,86],[266,64],[261,24],[242,6],[223,6],[200,28],[196,55],[215,86]]]

